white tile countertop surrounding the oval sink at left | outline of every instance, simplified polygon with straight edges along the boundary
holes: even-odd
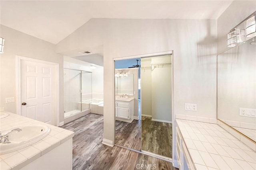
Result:
[[[9,112],[8,112],[9,113]],[[9,113],[10,115],[0,119],[0,131],[17,126],[43,124],[51,128],[50,133],[42,140],[29,147],[0,155],[0,170],[20,169],[50,150],[74,137],[74,132],[49,125],[28,117]]]

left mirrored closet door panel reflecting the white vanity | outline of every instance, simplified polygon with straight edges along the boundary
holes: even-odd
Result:
[[[136,59],[115,61],[115,144],[141,150],[140,68],[136,63]]]

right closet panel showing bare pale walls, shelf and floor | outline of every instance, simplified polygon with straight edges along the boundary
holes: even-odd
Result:
[[[142,151],[172,158],[172,56],[141,59]]]

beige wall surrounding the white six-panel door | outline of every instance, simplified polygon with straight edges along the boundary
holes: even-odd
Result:
[[[0,25],[0,36],[6,40],[0,55],[0,107],[16,113],[16,102],[5,103],[5,98],[17,100],[16,55],[50,61],[60,64],[60,122],[64,121],[63,56],[55,52],[55,45],[4,25]]]

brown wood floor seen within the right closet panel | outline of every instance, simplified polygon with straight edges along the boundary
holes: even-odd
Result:
[[[142,116],[142,150],[172,158],[172,124]]]

